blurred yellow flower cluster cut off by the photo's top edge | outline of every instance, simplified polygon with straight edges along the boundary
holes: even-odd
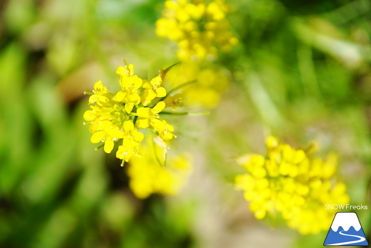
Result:
[[[229,31],[227,6],[222,0],[167,0],[163,17],[157,20],[156,34],[178,44],[180,61],[202,61],[216,57],[218,48],[228,51],[238,43]]]

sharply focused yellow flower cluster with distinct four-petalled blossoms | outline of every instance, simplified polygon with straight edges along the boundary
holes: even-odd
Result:
[[[102,81],[96,82],[89,97],[91,110],[86,111],[83,117],[90,123],[90,141],[103,142],[106,153],[112,151],[114,141],[122,141],[116,157],[122,159],[123,164],[133,156],[140,156],[139,142],[143,140],[143,134],[138,129],[150,128],[163,140],[175,137],[172,133],[174,127],[159,116],[165,107],[174,107],[174,104],[171,99],[166,99],[172,96],[161,87],[161,76],[148,82],[134,74],[132,64],[118,67],[116,75],[121,90],[113,94]]]

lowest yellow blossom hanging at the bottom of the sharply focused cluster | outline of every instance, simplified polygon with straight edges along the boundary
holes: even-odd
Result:
[[[139,142],[144,136],[134,127],[132,120],[123,123],[123,133],[122,145],[118,147],[116,157],[128,162],[133,155],[140,156]]]

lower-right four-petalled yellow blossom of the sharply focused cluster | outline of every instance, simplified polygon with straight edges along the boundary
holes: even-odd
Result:
[[[139,107],[137,112],[132,115],[138,116],[136,125],[143,129],[146,127],[152,128],[159,132],[160,137],[164,140],[171,140],[175,135],[172,133],[174,127],[165,120],[159,119],[159,113],[165,108],[165,102],[160,101],[153,108]]]

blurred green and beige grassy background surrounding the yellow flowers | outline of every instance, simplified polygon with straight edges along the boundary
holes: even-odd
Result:
[[[338,154],[370,238],[371,2],[228,3],[228,89],[194,107],[210,115],[169,119],[171,152],[192,154],[193,173],[177,196],[140,200],[127,168],[90,143],[82,93],[117,88],[122,58],[142,78],[177,62],[155,34],[163,1],[0,2],[0,247],[322,247],[325,232],[257,221],[233,188],[234,158],[263,154],[269,134]]]

